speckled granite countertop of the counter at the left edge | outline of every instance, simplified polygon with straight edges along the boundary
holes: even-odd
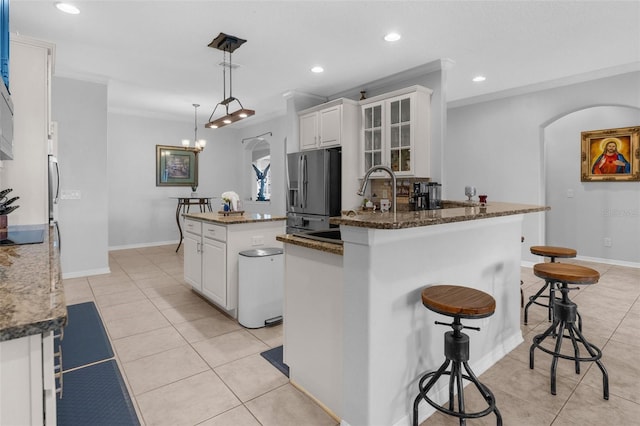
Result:
[[[67,305],[54,228],[44,242],[0,247],[0,341],[57,330],[67,323]]]

